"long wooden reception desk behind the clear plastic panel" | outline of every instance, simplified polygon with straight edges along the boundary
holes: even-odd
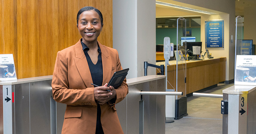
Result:
[[[178,91],[185,94],[204,89],[225,81],[226,57],[204,59],[201,61],[178,62]],[[157,62],[156,65],[163,65],[164,62]],[[176,91],[176,61],[169,61],[167,66],[167,89]],[[187,70],[185,71],[185,68]],[[156,69],[156,73],[160,73]],[[185,84],[186,76],[186,84]]]

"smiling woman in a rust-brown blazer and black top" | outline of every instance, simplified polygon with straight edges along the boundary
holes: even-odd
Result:
[[[57,54],[52,96],[67,104],[62,134],[123,133],[115,104],[125,98],[128,86],[124,79],[117,89],[107,87],[114,72],[122,67],[116,49],[97,41],[102,27],[103,17],[98,9],[80,9],[77,28],[82,38]]]

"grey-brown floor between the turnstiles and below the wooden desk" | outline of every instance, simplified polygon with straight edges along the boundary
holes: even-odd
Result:
[[[222,94],[234,83],[220,83],[201,93]],[[221,98],[193,97],[187,99],[188,116],[165,124],[165,134],[222,134]]]

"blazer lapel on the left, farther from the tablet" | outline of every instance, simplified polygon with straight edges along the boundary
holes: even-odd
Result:
[[[75,45],[75,52],[76,52],[76,57],[74,57],[74,60],[76,63],[76,68],[79,71],[80,76],[83,79],[85,86],[93,87],[93,85],[91,85],[91,83],[93,83],[92,77],[91,77],[91,72],[90,72],[86,57],[84,55],[84,51],[83,51],[82,44],[81,44],[80,40]]]

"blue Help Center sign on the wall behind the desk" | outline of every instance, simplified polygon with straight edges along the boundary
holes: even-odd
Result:
[[[205,48],[224,48],[224,21],[205,21]]]

